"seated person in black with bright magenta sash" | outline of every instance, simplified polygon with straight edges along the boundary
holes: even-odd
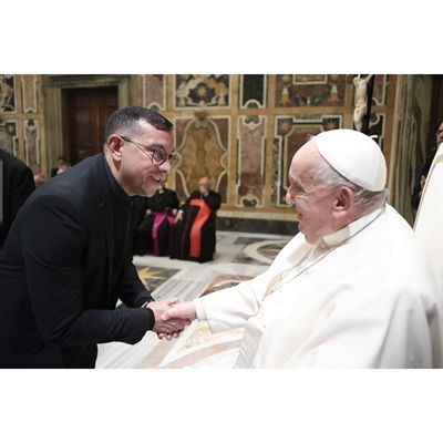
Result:
[[[177,209],[179,200],[175,190],[167,189],[162,182],[152,197],[137,197],[138,219],[133,238],[133,255],[168,256],[174,226],[173,209]]]

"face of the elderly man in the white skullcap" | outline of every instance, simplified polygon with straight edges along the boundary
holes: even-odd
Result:
[[[315,165],[324,162],[310,140],[296,153],[289,168],[289,188],[286,203],[295,205],[299,231],[311,245],[320,243],[324,235],[336,230],[332,217],[334,193],[326,189],[313,178]]]

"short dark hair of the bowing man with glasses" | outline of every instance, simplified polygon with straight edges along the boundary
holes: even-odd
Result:
[[[145,120],[159,131],[171,132],[174,127],[166,117],[154,110],[143,106],[126,106],[110,116],[104,131],[104,140],[107,141],[111,134],[116,134],[122,130],[138,131],[141,120]]]

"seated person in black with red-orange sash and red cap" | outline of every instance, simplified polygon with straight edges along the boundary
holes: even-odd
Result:
[[[220,205],[222,196],[210,189],[209,177],[202,177],[198,190],[190,194],[175,217],[171,258],[198,262],[213,260]]]

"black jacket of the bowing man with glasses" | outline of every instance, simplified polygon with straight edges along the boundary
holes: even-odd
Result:
[[[138,309],[153,299],[132,264],[135,207],[106,168],[99,154],[38,188],[0,251],[0,337],[33,359],[49,349],[83,367],[96,343],[135,343],[154,326]]]

